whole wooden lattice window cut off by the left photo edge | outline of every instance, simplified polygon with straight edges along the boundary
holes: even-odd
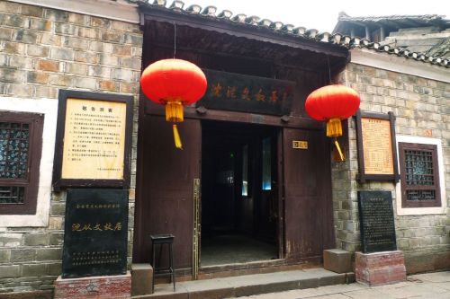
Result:
[[[0,214],[36,213],[44,117],[0,111]]]

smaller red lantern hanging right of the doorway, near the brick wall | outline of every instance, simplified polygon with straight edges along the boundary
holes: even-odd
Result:
[[[327,136],[342,136],[342,119],[348,119],[359,108],[359,95],[347,86],[335,84],[320,87],[311,92],[305,102],[305,110],[312,119],[327,121]],[[335,140],[341,160],[344,160],[338,141]]]

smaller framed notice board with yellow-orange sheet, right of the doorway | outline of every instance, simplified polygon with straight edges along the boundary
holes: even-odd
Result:
[[[356,143],[359,173],[357,179],[399,181],[395,116],[392,112],[356,113]]]

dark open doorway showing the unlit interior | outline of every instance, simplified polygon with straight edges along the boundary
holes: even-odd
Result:
[[[202,122],[201,267],[278,258],[277,135]]]

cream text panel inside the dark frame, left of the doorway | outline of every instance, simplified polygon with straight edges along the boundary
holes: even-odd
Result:
[[[62,179],[123,180],[126,103],[67,99]]]

